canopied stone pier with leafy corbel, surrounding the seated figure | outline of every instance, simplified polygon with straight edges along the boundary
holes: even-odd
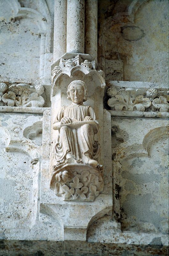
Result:
[[[56,219],[59,210],[64,239],[86,240],[87,230],[93,221],[112,212],[111,116],[103,108],[104,72],[97,71],[96,61],[88,54],[66,53],[52,64],[51,76],[51,113],[49,116],[46,112],[43,119],[45,142],[42,144],[41,209],[48,209],[49,214],[55,212]],[[63,163],[63,166],[61,163],[59,167],[55,159],[54,148],[59,131],[54,130],[53,125],[58,125],[56,118],[59,110],[70,105],[67,87],[77,80],[86,84],[88,97],[84,105],[93,108],[98,121],[98,132],[94,136],[100,144],[100,151],[95,167],[83,162]],[[71,140],[73,137],[70,136],[70,143]],[[49,150],[50,160],[47,157]],[[80,207],[82,210],[78,210]]]

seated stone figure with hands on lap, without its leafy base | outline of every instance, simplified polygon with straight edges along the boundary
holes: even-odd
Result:
[[[81,80],[74,80],[68,85],[67,99],[69,106],[63,106],[56,116],[53,129],[59,131],[54,145],[54,155],[60,164],[78,163],[97,167],[98,143],[94,134],[98,131],[94,109],[83,105],[87,100],[87,86]]]

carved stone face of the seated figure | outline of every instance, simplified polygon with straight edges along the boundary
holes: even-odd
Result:
[[[70,98],[73,103],[83,104],[84,87],[80,84],[71,84],[69,88]]]

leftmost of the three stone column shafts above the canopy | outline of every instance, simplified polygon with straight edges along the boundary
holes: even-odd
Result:
[[[66,52],[66,0],[55,0],[53,62]]]

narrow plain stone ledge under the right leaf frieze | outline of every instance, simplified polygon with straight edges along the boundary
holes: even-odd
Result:
[[[118,111],[108,110],[111,116],[131,116],[131,117],[149,117],[149,118],[169,118],[168,112],[143,112],[143,111]]]

